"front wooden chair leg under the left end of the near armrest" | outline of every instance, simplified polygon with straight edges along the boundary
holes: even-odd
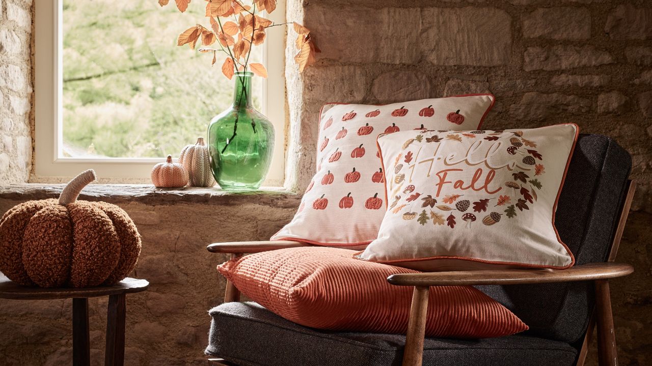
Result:
[[[403,366],[421,366],[423,360],[423,339],[426,333],[428,313],[428,286],[417,286],[412,293],[409,309],[408,333],[403,351]]]

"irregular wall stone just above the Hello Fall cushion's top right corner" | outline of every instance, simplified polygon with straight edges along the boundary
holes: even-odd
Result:
[[[586,98],[541,92],[526,92],[520,102],[513,104],[509,109],[512,117],[520,120],[543,120],[561,113],[582,115],[589,111],[591,111],[591,101]]]

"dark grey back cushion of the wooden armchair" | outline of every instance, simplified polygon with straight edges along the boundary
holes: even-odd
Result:
[[[613,139],[580,135],[569,165],[555,226],[575,264],[604,262],[614,237],[631,158]],[[578,345],[593,309],[589,282],[479,286],[529,327],[529,333]]]

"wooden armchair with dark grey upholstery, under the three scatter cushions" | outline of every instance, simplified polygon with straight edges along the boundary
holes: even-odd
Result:
[[[598,151],[595,151],[596,148],[599,148]],[[574,164],[584,164],[585,160],[594,160],[595,156],[593,155],[600,154],[600,149],[603,153],[610,152],[610,156],[602,155],[603,158],[600,162],[602,170],[594,169],[596,182],[590,190],[578,193],[578,187],[586,186],[586,179],[590,179],[591,176],[585,174],[585,166],[582,167],[584,169],[578,168],[578,171],[573,171],[572,168]],[[246,350],[238,352],[237,345],[220,346],[220,342],[228,343],[226,339],[237,333],[220,329],[219,320],[241,317],[240,320],[234,320],[234,324],[239,324],[238,321],[248,318],[246,320],[249,323],[243,322],[242,324],[245,327],[245,324],[253,324],[250,322],[252,319],[254,322],[258,322],[260,320],[258,318],[267,317],[265,313],[262,313],[265,310],[259,307],[234,310],[234,305],[228,303],[238,302],[239,292],[233,285],[227,283],[225,304],[211,311],[211,315],[213,315],[211,344],[206,352],[211,356],[220,357],[211,359],[215,365],[240,366],[263,364],[582,366],[591,333],[597,323],[599,364],[600,366],[615,366],[617,365],[617,352],[608,280],[633,272],[632,266],[614,263],[614,259],[627,221],[636,184],[627,180],[629,165],[627,165],[627,169],[622,169],[622,167],[617,167],[617,164],[612,164],[610,159],[615,159],[622,165],[623,160],[629,162],[629,154],[604,136],[582,135],[582,139],[578,141],[571,169],[569,169],[559,208],[557,208],[557,229],[561,238],[570,244],[569,247],[576,257],[576,266],[573,268],[568,270],[484,270],[391,275],[387,278],[389,283],[414,287],[408,332],[404,338],[389,337],[389,335],[381,337],[382,335],[374,334],[353,335],[355,333],[320,332],[287,324],[290,322],[275,316],[272,316],[271,320],[267,318],[267,320],[261,320],[261,322],[274,323],[271,324],[273,332],[285,329],[286,332],[297,334],[299,343],[295,343],[294,347],[301,345],[300,352],[312,352],[314,356],[297,362],[294,361],[299,354],[296,353],[297,350],[293,349],[291,345],[286,350],[278,350],[278,348],[284,347],[278,342],[269,345],[271,347],[269,354],[260,354],[258,348],[253,349],[255,348],[254,343],[260,342],[255,335],[248,335],[247,338],[252,346],[250,353],[247,353]],[[614,169],[614,171],[610,171],[610,169]],[[618,181],[620,181],[619,184],[617,184]],[[567,190],[572,193],[565,195]],[[601,201],[607,195],[616,197],[610,206]],[[587,201],[585,197],[590,198]],[[563,201],[565,199],[567,201]],[[567,210],[569,215],[564,214]],[[587,218],[581,221],[581,225],[580,223],[573,225],[571,222],[571,219],[576,219],[576,212],[584,212],[584,216]],[[600,214],[599,217],[595,216],[597,213]],[[605,216],[610,217],[607,217],[606,221],[601,221],[605,219]],[[606,227],[608,224],[610,224],[609,227]],[[233,242],[211,244],[207,249],[213,253],[230,253],[231,257],[239,257],[244,253],[299,246],[310,245],[292,241]],[[501,337],[494,343],[483,340],[474,343],[473,341],[437,340],[424,337],[430,286],[457,285],[477,286],[478,289],[503,303],[530,326],[531,330],[527,331],[528,336],[531,334],[535,338],[526,339],[526,336],[512,335]],[[226,309],[227,306],[230,307]],[[217,335],[215,335],[216,333]],[[330,354],[328,351],[320,351],[317,349],[319,347],[312,349],[310,339],[306,338],[304,343],[301,343],[301,339],[308,337],[308,333],[312,337],[321,335],[325,338],[340,337],[340,339],[344,339],[341,344],[342,350],[345,351],[350,347],[347,348],[344,345],[352,342],[364,342],[366,338],[370,338],[373,341],[369,345],[388,343],[394,347],[390,348],[395,350],[395,354],[385,358],[387,361],[374,359],[369,360],[369,363],[354,361],[349,359],[346,354],[342,354],[340,362],[333,363],[328,356]],[[428,343],[428,357],[426,358],[424,358],[424,341]],[[550,349],[545,347],[539,349],[532,346],[537,342],[551,342]],[[440,343],[444,343],[444,345],[441,346]],[[261,345],[265,344],[264,341],[261,343]],[[516,354],[512,352],[510,356],[509,348],[511,347],[514,348]],[[274,351],[271,350],[272,348]],[[450,350],[455,352],[450,355],[445,353]],[[507,350],[505,351],[507,353],[500,353],[500,350]],[[470,353],[464,353],[467,351]],[[323,352],[323,354],[320,356],[319,352]],[[286,358],[288,353],[294,355],[293,358]],[[519,355],[520,353],[522,355]],[[475,357],[476,354],[477,357]],[[561,359],[562,356],[565,358]],[[367,357],[369,358],[369,356]],[[475,359],[473,359],[474,357]],[[547,358],[559,359],[553,359],[552,363],[546,363],[550,362],[550,359]],[[315,361],[316,359],[321,361]],[[262,360],[265,360],[266,363]]]

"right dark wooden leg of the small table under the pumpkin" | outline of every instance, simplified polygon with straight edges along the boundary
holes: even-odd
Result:
[[[125,294],[109,296],[104,366],[125,364]]]

